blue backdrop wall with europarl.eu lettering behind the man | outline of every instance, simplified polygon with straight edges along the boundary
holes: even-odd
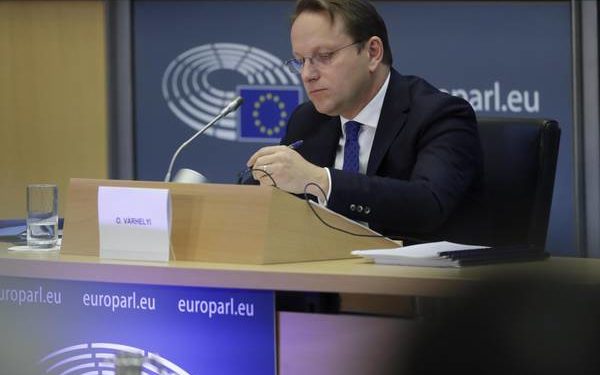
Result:
[[[375,5],[401,73],[467,98],[479,116],[548,117],[560,123],[547,246],[553,254],[575,254],[569,2]],[[138,179],[161,180],[178,145],[239,93],[239,86],[301,87],[281,66],[291,54],[292,8],[292,1],[134,2]],[[267,98],[268,90],[263,94]],[[247,158],[276,138],[271,132],[244,139],[239,130],[264,127],[266,134],[286,111],[264,118],[228,116],[185,149],[174,170],[187,167],[213,182],[234,182]]]

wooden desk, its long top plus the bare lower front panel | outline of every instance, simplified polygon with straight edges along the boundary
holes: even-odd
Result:
[[[499,276],[528,275],[600,284],[600,260],[545,261],[463,269],[374,265],[363,259],[236,265],[126,262],[58,253],[9,252],[0,243],[0,275],[276,291],[338,292],[394,298],[452,297]],[[418,322],[348,314],[278,313],[280,374],[394,374]]]

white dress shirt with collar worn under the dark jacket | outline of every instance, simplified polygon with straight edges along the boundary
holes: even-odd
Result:
[[[377,124],[379,123],[379,116],[381,115],[381,108],[383,107],[383,99],[387,91],[388,84],[390,83],[390,73],[381,85],[381,88],[377,92],[377,95],[371,99],[371,101],[356,115],[353,119],[347,119],[344,116],[340,116],[340,122],[342,127],[342,137],[338,143],[338,148],[335,154],[335,163],[333,168],[342,169],[344,166],[344,144],[346,143],[346,122],[350,120],[358,121],[362,124],[360,132],[358,133],[358,145],[360,146],[358,154],[358,172],[365,174],[367,173],[367,165],[369,164],[369,156],[371,155],[371,148],[373,147],[373,139],[375,139],[375,130],[377,130]],[[327,199],[331,195],[331,172],[329,168],[325,168],[327,171],[327,178],[329,179],[329,189],[327,191]]]

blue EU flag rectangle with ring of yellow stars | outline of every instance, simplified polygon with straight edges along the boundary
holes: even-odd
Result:
[[[238,86],[244,104],[238,117],[238,139],[279,142],[291,112],[300,104],[298,86]]]

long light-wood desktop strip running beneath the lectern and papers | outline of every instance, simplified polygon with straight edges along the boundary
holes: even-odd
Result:
[[[277,291],[450,297],[490,278],[528,275],[600,285],[600,259],[557,258],[467,268],[376,265],[362,258],[244,265],[134,262],[58,253],[9,252],[0,243],[0,275],[64,280]]]

